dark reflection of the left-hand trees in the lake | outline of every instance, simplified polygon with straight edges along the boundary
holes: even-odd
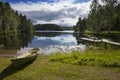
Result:
[[[18,50],[27,47],[31,43],[32,37],[33,34],[29,33],[0,35],[0,55],[16,55]]]

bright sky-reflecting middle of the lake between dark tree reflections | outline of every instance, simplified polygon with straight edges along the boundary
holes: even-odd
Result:
[[[69,52],[78,47],[74,31],[36,31],[31,43],[18,51],[18,54],[30,50],[31,48],[40,48],[39,54],[50,54],[56,51]],[[85,45],[80,45],[84,49]]]

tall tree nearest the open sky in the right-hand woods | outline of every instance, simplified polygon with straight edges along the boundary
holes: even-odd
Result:
[[[93,0],[92,4],[90,6],[91,11],[90,11],[89,16],[88,16],[88,20],[87,20],[88,24],[87,25],[88,25],[88,27],[91,27],[89,29],[94,31],[94,32],[99,31],[99,23],[100,23],[99,7],[100,7],[99,1]]]

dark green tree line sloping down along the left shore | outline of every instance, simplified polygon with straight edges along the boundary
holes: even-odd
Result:
[[[34,32],[34,27],[25,15],[14,11],[8,2],[0,1],[0,33]]]

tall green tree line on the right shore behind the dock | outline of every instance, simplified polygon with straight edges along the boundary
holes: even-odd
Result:
[[[92,0],[91,10],[87,18],[79,17],[74,26],[75,32],[90,31],[120,31],[120,1],[119,0]]]

